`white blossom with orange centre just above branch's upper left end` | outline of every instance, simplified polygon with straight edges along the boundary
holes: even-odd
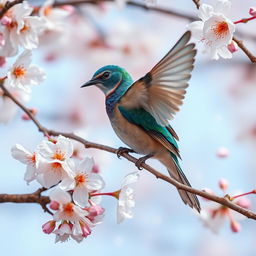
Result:
[[[46,78],[45,73],[31,62],[32,52],[25,50],[9,69],[4,84],[30,92],[31,86],[42,83]]]

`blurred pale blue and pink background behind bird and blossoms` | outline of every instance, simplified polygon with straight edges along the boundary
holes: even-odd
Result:
[[[188,0],[157,0],[156,6],[197,15]],[[231,19],[248,17],[251,6],[255,1],[245,0],[241,5],[233,0]],[[134,80],[139,79],[174,45],[190,21],[130,5],[120,7],[116,2],[77,5],[71,12],[61,33],[44,35],[39,49],[33,51],[33,63],[44,68],[47,79],[33,88],[27,106],[38,109],[37,118],[48,128],[76,132],[116,148],[124,146],[108,121],[104,95],[97,88],[80,86],[107,64],[120,65]],[[255,21],[237,25],[237,32],[256,53]],[[232,60],[212,61],[202,54],[200,43],[197,47],[184,105],[171,122],[180,137],[181,165],[195,188],[210,188],[222,195],[218,181],[226,178],[229,193],[250,191],[256,180],[256,67],[242,51]],[[10,154],[15,143],[33,150],[43,138],[31,122],[21,119],[22,114],[18,110],[13,120],[0,125],[0,193],[30,193],[38,188],[36,182],[26,185],[25,166]],[[218,157],[223,147],[229,152],[225,158]],[[105,191],[119,189],[122,178],[136,170],[113,154],[84,150],[78,144],[77,149],[94,157],[106,181]],[[157,161],[148,163],[166,172]],[[54,235],[44,234],[41,225],[50,216],[39,205],[1,204],[1,254],[255,255],[255,221],[243,220],[239,233],[233,233],[225,222],[215,234],[183,205],[174,187],[146,171],[140,173],[134,218],[117,225],[115,199],[103,198],[104,221],[80,244],[73,240],[55,244]],[[253,196],[250,199],[255,210],[256,201]],[[201,202],[204,207],[206,203]]]

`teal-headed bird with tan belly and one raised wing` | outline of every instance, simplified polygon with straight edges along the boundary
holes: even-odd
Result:
[[[189,43],[191,32],[186,31],[172,49],[137,81],[122,67],[107,65],[97,70],[92,79],[81,87],[95,85],[105,94],[106,112],[117,136],[139,158],[136,166],[149,158],[159,160],[176,181],[190,186],[179,164],[179,137],[170,125],[183,103],[188,81],[194,68],[196,49]],[[178,189],[183,202],[200,213],[198,198]]]

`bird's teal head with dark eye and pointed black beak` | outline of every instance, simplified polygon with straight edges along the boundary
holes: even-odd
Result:
[[[109,95],[123,81],[132,81],[128,72],[119,66],[109,65],[98,69],[92,79],[81,87],[96,85],[105,95]]]

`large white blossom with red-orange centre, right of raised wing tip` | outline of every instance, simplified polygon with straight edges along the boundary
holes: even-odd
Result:
[[[230,7],[229,0],[218,0],[215,6],[202,4],[198,14],[201,21],[194,21],[188,26],[192,35],[204,44],[205,50],[215,60],[219,57],[232,58],[228,45],[235,32],[235,25],[227,18]]]

